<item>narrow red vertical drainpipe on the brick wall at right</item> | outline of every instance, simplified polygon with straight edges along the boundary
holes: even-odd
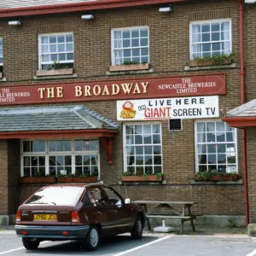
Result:
[[[239,0],[239,31],[240,31],[240,77],[241,77],[241,105],[245,103],[245,70],[243,52],[243,7],[242,0]],[[248,183],[247,183],[247,133],[242,129],[242,166],[244,182],[244,204],[246,214],[246,226],[249,224],[249,202],[248,202]]]

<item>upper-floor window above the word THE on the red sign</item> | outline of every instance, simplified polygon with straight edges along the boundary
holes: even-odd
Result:
[[[39,69],[48,69],[56,61],[73,67],[73,33],[39,35]]]

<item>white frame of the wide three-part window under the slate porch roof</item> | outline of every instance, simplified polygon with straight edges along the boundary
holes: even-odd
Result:
[[[91,151],[75,151],[75,141],[76,140],[96,140],[98,150]],[[34,142],[34,141],[44,141],[45,142],[45,151],[43,152],[23,152],[23,143],[24,142]],[[49,151],[49,142],[50,141],[71,141],[72,150],[71,151]],[[98,178],[101,178],[101,159],[100,159],[100,142],[98,138],[51,138],[51,139],[24,139],[20,140],[20,176],[24,176],[24,156],[45,156],[45,175],[49,174],[49,156],[65,156],[71,155],[72,157],[72,174],[75,174],[75,157],[77,155],[97,155],[98,156]],[[31,173],[30,173],[31,175]],[[30,176],[32,177],[32,176]]]

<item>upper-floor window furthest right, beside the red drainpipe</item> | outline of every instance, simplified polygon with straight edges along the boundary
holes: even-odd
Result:
[[[231,21],[211,20],[190,23],[190,59],[231,52]]]

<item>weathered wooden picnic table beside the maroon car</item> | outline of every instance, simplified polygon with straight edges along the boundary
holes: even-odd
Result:
[[[141,205],[144,208],[148,230],[151,230],[149,218],[179,218],[181,220],[180,235],[183,235],[183,224],[185,221],[190,220],[192,230],[195,231],[194,219],[195,215],[192,214],[191,207],[198,204],[198,201],[132,201],[132,203]],[[155,205],[148,210],[148,205]],[[182,206],[182,212],[177,210],[177,207]],[[160,209],[166,209],[167,214],[160,214]]]

